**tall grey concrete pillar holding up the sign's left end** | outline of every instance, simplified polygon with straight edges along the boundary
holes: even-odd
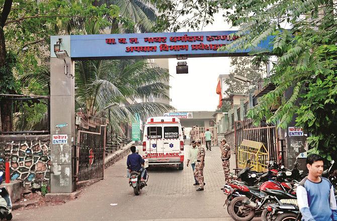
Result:
[[[75,80],[74,61],[50,58],[50,134],[51,134],[51,193],[70,193],[74,190],[72,156],[75,142]],[[67,135],[65,144],[53,144],[53,135]]]

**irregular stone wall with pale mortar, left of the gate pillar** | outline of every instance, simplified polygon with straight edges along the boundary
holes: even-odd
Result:
[[[11,180],[22,180],[26,188],[40,188],[50,180],[50,136],[0,136],[0,169],[10,160]]]

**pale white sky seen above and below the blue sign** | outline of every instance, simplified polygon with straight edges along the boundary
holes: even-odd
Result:
[[[213,25],[202,30],[194,31],[227,31],[233,29],[222,19],[222,14],[216,14]],[[184,32],[187,30],[180,30]],[[168,59],[170,67],[170,97],[171,105],[177,111],[215,111],[219,103],[216,94],[217,78],[219,74],[228,74],[230,71],[230,57],[216,58],[188,58],[188,74],[176,74],[178,60]]]

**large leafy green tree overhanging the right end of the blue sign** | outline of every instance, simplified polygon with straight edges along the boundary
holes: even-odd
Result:
[[[187,7],[193,2],[166,1],[161,2],[161,7],[165,9],[181,3]],[[234,27],[240,27],[235,33],[240,39],[222,50],[233,52],[254,49],[268,36],[274,36],[271,51],[255,51],[251,55],[262,58],[268,52],[278,57],[273,75],[268,79],[268,82],[275,84],[276,89],[261,97],[248,116],[257,122],[266,118],[267,123],[277,123],[282,128],[286,128],[295,116],[297,126],[308,130],[311,135],[308,142],[314,148],[310,151],[327,159],[336,158],[333,156],[337,150],[335,1],[229,0],[197,1],[196,4],[199,10],[204,9],[206,16],[212,15],[212,10],[217,12],[222,9],[224,20]],[[174,12],[166,12],[160,18],[162,21],[158,29],[179,27],[179,23],[170,23],[179,16]],[[197,24],[203,18],[202,14],[194,14],[192,21]],[[288,98],[284,97],[286,91],[292,91]],[[279,108],[272,113],[270,107],[274,104],[278,104]]]

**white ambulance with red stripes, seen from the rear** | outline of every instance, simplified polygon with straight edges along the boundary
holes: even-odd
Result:
[[[144,126],[143,157],[149,165],[177,165],[184,169],[184,138],[180,120],[148,118]]]

